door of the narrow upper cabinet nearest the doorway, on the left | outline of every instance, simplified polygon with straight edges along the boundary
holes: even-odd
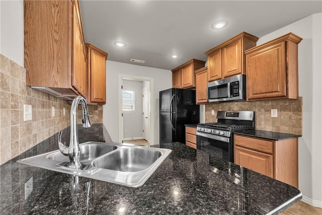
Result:
[[[106,56],[91,49],[90,93],[91,102],[106,103]]]

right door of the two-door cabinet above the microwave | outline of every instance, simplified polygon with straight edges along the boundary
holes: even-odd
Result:
[[[222,48],[223,78],[243,73],[241,57],[244,57],[244,51],[241,50],[241,39]]]

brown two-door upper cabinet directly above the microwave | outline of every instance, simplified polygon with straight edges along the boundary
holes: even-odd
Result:
[[[255,47],[258,39],[243,32],[205,52],[208,55],[208,82],[245,74],[244,51]]]

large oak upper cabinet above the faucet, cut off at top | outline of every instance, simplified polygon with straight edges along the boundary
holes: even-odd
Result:
[[[87,53],[78,1],[24,1],[26,84],[72,99],[87,95]]]

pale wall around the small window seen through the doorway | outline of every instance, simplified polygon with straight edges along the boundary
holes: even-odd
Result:
[[[142,81],[123,80],[123,90],[134,91],[134,111],[123,111],[123,138],[143,137]]]

